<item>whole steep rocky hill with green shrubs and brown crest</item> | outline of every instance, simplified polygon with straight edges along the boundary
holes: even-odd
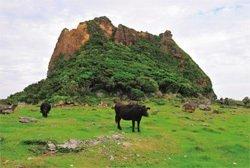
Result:
[[[63,29],[48,66],[47,78],[10,101],[84,101],[102,91],[109,96],[141,99],[163,93],[214,97],[209,77],[172,39],[115,27],[107,17]]]

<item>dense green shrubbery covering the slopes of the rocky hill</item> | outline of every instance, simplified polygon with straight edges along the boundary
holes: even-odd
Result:
[[[88,31],[90,41],[70,60],[64,60],[62,54],[46,79],[8,99],[27,103],[81,102],[100,90],[109,96],[126,95],[134,100],[154,96],[158,90],[183,96],[214,95],[210,79],[199,66],[185,52],[181,60],[163,52],[159,36],[126,46],[107,38],[95,20],[88,21]],[[175,43],[173,48],[181,50]]]

